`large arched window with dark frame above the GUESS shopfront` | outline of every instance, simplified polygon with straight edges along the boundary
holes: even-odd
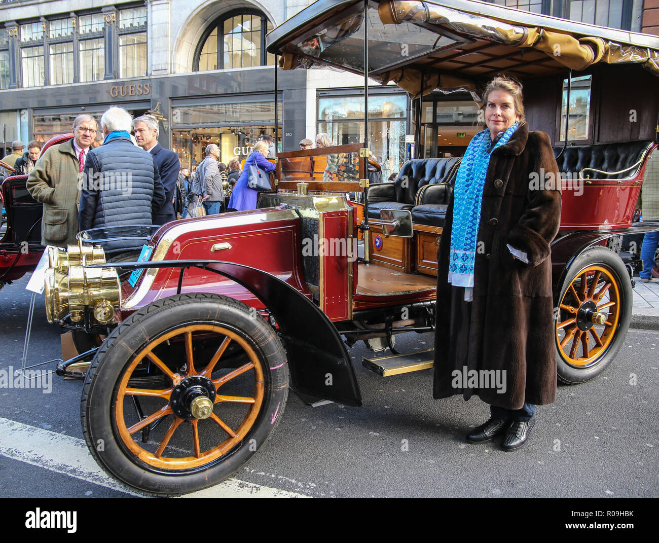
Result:
[[[272,23],[260,11],[239,11],[217,18],[204,32],[194,55],[193,71],[272,66],[266,34]]]

